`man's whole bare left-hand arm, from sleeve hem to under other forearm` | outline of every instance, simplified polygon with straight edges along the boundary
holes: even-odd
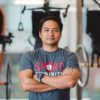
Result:
[[[24,91],[45,92],[55,89],[50,85],[36,81],[33,78],[33,71],[30,69],[20,71],[19,80]]]

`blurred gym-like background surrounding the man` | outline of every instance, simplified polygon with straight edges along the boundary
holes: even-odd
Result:
[[[41,18],[61,18],[59,47],[76,52],[81,79],[72,100],[100,98],[100,0],[0,0],[0,100],[28,99],[18,73],[23,53],[41,47]]]

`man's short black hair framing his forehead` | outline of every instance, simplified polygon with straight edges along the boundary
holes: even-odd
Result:
[[[39,27],[38,27],[38,30],[39,30],[39,31],[41,31],[43,24],[44,24],[47,20],[54,20],[55,22],[57,22],[58,25],[59,25],[59,28],[60,28],[60,32],[62,32],[63,24],[62,24],[62,22],[61,22],[61,19],[60,19],[59,17],[55,17],[55,16],[47,16],[47,17],[44,17],[44,18],[40,21],[40,23],[39,23]]]

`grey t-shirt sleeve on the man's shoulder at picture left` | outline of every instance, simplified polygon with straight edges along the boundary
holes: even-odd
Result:
[[[32,69],[32,59],[29,53],[25,53],[21,57],[20,70]]]

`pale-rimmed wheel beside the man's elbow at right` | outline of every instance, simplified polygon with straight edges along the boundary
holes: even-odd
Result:
[[[85,87],[89,80],[89,60],[86,49],[83,45],[79,45],[76,54],[79,60],[79,66],[81,71],[81,77],[78,80],[78,85],[80,87]]]

